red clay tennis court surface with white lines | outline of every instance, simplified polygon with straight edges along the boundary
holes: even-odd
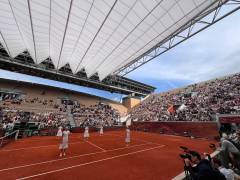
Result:
[[[58,140],[53,136],[31,137],[0,150],[0,179],[98,179],[167,180],[183,170],[179,146],[209,152],[208,140],[131,132],[126,146],[124,131],[100,136],[70,135],[67,156],[58,157]]]

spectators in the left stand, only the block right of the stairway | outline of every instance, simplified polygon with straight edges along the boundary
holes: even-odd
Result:
[[[86,107],[85,105],[73,105],[72,114],[78,126],[112,126],[120,118],[119,112],[110,105],[98,103]]]

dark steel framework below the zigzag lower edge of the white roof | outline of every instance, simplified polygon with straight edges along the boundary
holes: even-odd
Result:
[[[51,59],[35,64],[27,51],[15,58],[9,57],[0,43],[0,69],[38,76],[109,92],[144,97],[154,91],[154,87],[121,76],[108,76],[100,81],[97,75],[87,78],[83,71],[73,74],[69,64],[56,70]]]

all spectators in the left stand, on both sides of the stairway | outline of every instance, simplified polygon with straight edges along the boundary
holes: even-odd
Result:
[[[2,103],[13,102],[19,99],[5,99]],[[85,106],[80,105],[79,102],[75,103],[62,103],[54,104],[53,100],[43,100],[38,97],[30,99],[19,100],[20,104],[26,102],[28,104],[41,104],[41,106],[51,105],[55,109],[54,112],[46,112],[45,110],[29,111],[29,122],[36,122],[39,124],[39,129],[42,128],[55,128],[58,126],[66,126],[70,124],[69,114],[73,117],[77,126],[85,127],[98,127],[98,126],[112,126],[116,124],[120,118],[120,114],[116,109],[110,105],[99,102],[98,104]],[[34,105],[33,105],[34,106]],[[13,107],[2,106],[0,112],[0,121],[3,129],[14,127],[15,122],[20,120],[21,110],[16,110]]]

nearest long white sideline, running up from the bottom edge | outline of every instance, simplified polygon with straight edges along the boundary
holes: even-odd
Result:
[[[30,178],[34,178],[34,177],[38,177],[38,176],[42,176],[42,175],[46,175],[46,174],[52,174],[52,173],[59,172],[59,171],[73,169],[73,168],[76,168],[76,167],[86,166],[86,165],[89,165],[89,164],[94,164],[94,163],[98,163],[98,162],[102,162],[102,161],[112,160],[112,159],[116,159],[116,158],[120,158],[120,157],[125,157],[125,156],[129,156],[129,155],[141,153],[141,152],[150,151],[150,150],[157,149],[157,148],[162,148],[164,146],[165,145],[161,145],[161,146],[152,147],[152,148],[148,148],[148,149],[143,149],[143,150],[139,150],[139,151],[135,151],[135,152],[131,152],[131,153],[112,156],[112,157],[109,157],[109,158],[104,158],[104,159],[100,159],[100,160],[96,160],[96,161],[90,161],[90,162],[87,162],[87,163],[82,163],[82,164],[78,164],[78,165],[74,165],[74,166],[69,166],[69,167],[66,167],[66,168],[61,168],[61,169],[57,169],[57,170],[53,170],[53,171],[47,171],[47,172],[35,174],[35,175],[32,175],[32,176],[26,176],[26,177],[23,177],[23,178],[19,178],[17,180],[30,179]]]

